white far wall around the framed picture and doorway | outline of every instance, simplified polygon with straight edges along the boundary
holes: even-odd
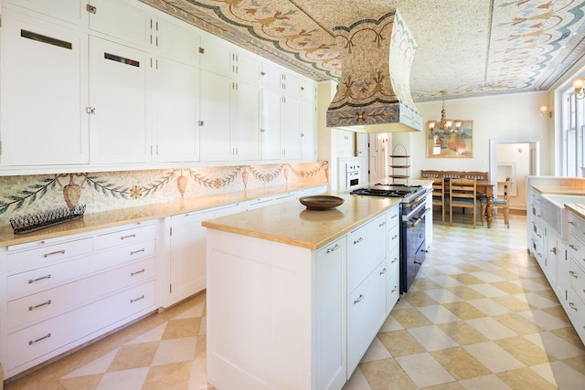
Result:
[[[549,163],[554,156],[552,120],[540,114],[542,105],[549,105],[547,92],[446,100],[448,118],[473,121],[473,158],[427,158],[428,132],[408,133],[412,177],[418,177],[421,169],[489,171],[490,139],[493,138],[537,138],[541,146],[541,174],[552,174]],[[427,121],[441,119],[441,100],[418,103],[417,109],[425,125]]]

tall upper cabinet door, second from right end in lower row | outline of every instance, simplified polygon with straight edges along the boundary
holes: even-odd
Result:
[[[282,98],[282,158],[301,158],[301,100]]]

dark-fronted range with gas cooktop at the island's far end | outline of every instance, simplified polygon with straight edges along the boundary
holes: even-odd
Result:
[[[352,195],[399,197],[400,202],[400,292],[407,292],[424,262],[427,196],[432,190],[421,185],[374,184],[357,188]]]

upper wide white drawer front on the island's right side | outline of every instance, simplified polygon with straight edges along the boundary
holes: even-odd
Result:
[[[378,216],[347,235],[347,277],[349,290],[359,283],[386,257],[386,215]]]

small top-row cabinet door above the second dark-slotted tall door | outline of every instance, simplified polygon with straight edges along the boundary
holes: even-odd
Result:
[[[133,46],[150,47],[152,16],[144,5],[125,0],[90,0],[90,29],[123,39]]]

